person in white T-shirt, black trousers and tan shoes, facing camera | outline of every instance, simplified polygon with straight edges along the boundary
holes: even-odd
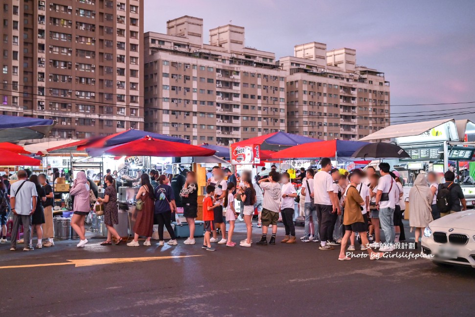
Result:
[[[297,191],[294,185],[290,182],[290,175],[287,172],[282,173],[282,203],[280,204],[280,212],[282,214],[282,222],[285,226],[285,238],[282,243],[296,243],[295,226],[294,226],[294,211],[295,211],[295,197]]]

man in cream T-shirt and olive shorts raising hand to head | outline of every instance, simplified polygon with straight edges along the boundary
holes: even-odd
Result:
[[[258,245],[266,246],[267,243],[267,231],[269,225],[272,225],[272,236],[269,241],[270,245],[275,244],[275,235],[277,234],[277,221],[279,220],[281,189],[278,183],[280,174],[276,171],[271,171],[267,179],[260,179],[258,181],[259,186],[264,190],[264,200],[262,201],[262,237],[257,242]]]

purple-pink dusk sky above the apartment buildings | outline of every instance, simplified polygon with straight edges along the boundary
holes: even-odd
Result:
[[[354,48],[357,64],[390,82],[391,122],[475,121],[474,12],[474,0],[145,0],[144,31],[166,33],[167,20],[190,15],[204,19],[205,43],[232,21],[246,46],[277,59],[314,41]]]

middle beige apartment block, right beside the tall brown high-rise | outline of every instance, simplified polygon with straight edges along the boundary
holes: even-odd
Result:
[[[145,33],[145,130],[220,145],[285,131],[286,72],[244,39],[228,24],[204,44],[203,19],[190,16]]]

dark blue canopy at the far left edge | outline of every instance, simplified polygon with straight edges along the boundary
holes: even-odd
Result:
[[[0,114],[0,142],[43,138],[54,125],[54,120]]]

